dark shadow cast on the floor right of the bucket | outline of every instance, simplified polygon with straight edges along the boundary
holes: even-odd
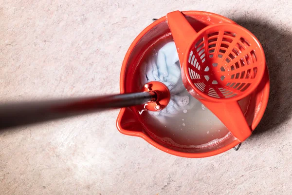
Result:
[[[259,135],[285,123],[292,110],[292,32],[285,26],[272,25],[255,18],[235,18],[251,31],[262,44],[270,74],[270,97],[266,112],[253,135]]]

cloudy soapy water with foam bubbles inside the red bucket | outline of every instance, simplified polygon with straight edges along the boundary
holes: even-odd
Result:
[[[173,41],[172,37],[167,39]],[[146,60],[157,58],[161,47],[162,44],[154,44],[149,49]],[[182,83],[182,78],[179,82]],[[141,83],[142,86],[144,84]],[[232,136],[225,125],[199,100],[190,96],[184,87],[179,93],[171,94],[171,98],[181,107],[171,115],[143,112],[145,109],[139,112],[146,133],[154,140],[176,147],[194,149],[218,144]],[[248,108],[249,100],[250,97],[247,97],[239,101],[243,113]]]

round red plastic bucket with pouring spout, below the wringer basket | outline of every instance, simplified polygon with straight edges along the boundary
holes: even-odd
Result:
[[[208,12],[185,11],[183,14],[197,32],[212,24],[235,23],[225,17]],[[121,69],[120,91],[122,94],[141,91],[142,86],[137,82],[139,79],[138,69],[143,59],[146,58],[149,48],[165,37],[169,39],[172,35],[164,16],[147,26],[132,42]],[[164,41],[161,42],[164,43]],[[249,97],[248,104],[244,110],[245,118],[252,130],[256,128],[263,117],[268,103],[269,90],[269,74],[266,69],[263,79]],[[141,109],[143,107],[139,106],[122,108],[117,118],[118,130],[125,135],[142,137],[151,145],[169,154],[183,157],[213,156],[225,152],[240,143],[232,134],[217,138],[216,141],[210,143],[198,144],[198,146],[196,146],[195,142],[192,143],[192,146],[189,146],[188,144],[164,141],[165,139],[163,138],[167,136],[159,129],[155,129],[157,128],[155,124],[150,122],[146,124],[145,119],[139,114]]]

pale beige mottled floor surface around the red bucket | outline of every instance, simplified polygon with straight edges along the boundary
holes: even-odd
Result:
[[[188,159],[120,134],[118,110],[0,132],[0,194],[263,195],[292,192],[292,1],[0,0],[1,101],[119,92],[152,18],[205,10],[263,44],[271,96],[239,151]]]

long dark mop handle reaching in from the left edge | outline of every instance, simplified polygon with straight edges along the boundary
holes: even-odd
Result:
[[[156,101],[154,91],[0,105],[0,129]]]

